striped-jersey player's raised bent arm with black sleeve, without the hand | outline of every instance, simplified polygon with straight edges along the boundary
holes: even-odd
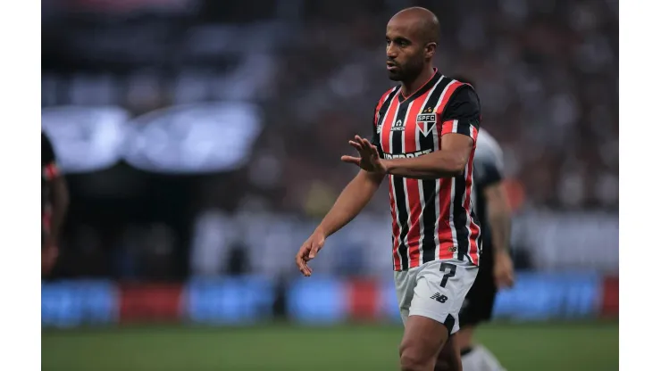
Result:
[[[386,172],[422,179],[463,174],[480,128],[480,101],[473,88],[460,87],[440,119],[439,151],[415,158],[382,160]]]

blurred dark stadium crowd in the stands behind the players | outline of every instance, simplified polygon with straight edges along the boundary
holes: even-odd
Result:
[[[347,139],[371,135],[374,104],[392,86],[385,25],[414,4],[439,14],[439,68],[473,79],[483,128],[505,151],[517,267],[617,269],[615,0],[42,4],[44,128],[58,155],[73,136],[103,147],[110,135],[88,121],[113,106],[128,112],[123,136],[143,141],[118,148],[197,138],[189,151],[206,145],[227,161],[196,171],[171,159],[175,170],[144,155],[71,171],[56,277],[297,274],[294,251],[356,172],[339,161],[351,151]],[[194,103],[244,109],[224,119],[196,111],[148,129],[157,121],[149,112]],[[90,110],[79,128],[58,117],[75,135],[46,123],[61,106]],[[215,120],[226,127],[203,125]],[[163,148],[151,153],[167,157]],[[333,237],[319,271],[389,273],[387,197],[381,187],[364,216]]]

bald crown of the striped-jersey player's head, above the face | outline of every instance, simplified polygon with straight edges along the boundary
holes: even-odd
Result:
[[[397,12],[388,26],[407,29],[412,37],[423,43],[439,43],[440,25],[436,15],[428,9],[414,6]]]

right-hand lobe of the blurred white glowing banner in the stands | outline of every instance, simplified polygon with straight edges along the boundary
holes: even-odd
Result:
[[[247,103],[197,103],[154,111],[126,126],[125,160],[162,173],[229,171],[250,158],[260,121]]]

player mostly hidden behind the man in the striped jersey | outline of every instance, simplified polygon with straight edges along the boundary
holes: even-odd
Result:
[[[515,281],[508,249],[511,212],[502,183],[503,153],[485,130],[478,137],[474,161],[473,208],[481,221],[482,253],[480,271],[459,312],[461,329],[456,334],[456,346],[461,350],[465,371],[500,371],[504,368],[498,359],[473,343],[475,327],[491,318],[497,291],[511,287]]]

